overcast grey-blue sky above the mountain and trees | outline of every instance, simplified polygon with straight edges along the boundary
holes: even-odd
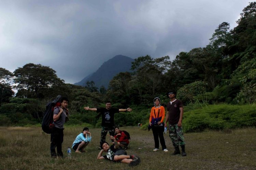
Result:
[[[0,67],[53,68],[81,81],[115,55],[169,55],[209,44],[248,0],[0,0]]]

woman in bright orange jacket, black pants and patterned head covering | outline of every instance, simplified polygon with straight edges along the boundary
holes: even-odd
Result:
[[[162,150],[168,152],[165,145],[165,138],[163,138],[163,130],[165,126],[163,119],[165,119],[165,108],[161,106],[160,99],[156,97],[154,99],[154,107],[151,108],[150,112],[150,126],[152,126],[155,141],[155,149],[153,151],[159,150],[159,137]]]

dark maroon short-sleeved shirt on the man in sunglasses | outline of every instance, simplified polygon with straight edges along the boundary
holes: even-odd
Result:
[[[183,107],[182,101],[176,99],[172,102],[167,104],[167,111],[169,112],[168,121],[169,124],[177,124],[180,119],[180,107]]]

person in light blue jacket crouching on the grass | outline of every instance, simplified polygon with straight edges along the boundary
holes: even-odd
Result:
[[[77,153],[85,152],[84,148],[91,141],[91,133],[88,128],[84,128],[83,132],[76,136],[75,141],[72,144],[73,150]]]

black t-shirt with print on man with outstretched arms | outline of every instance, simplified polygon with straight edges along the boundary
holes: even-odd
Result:
[[[114,114],[119,113],[118,108],[97,108],[97,113],[101,113],[102,121],[101,126],[111,127],[114,126]]]

